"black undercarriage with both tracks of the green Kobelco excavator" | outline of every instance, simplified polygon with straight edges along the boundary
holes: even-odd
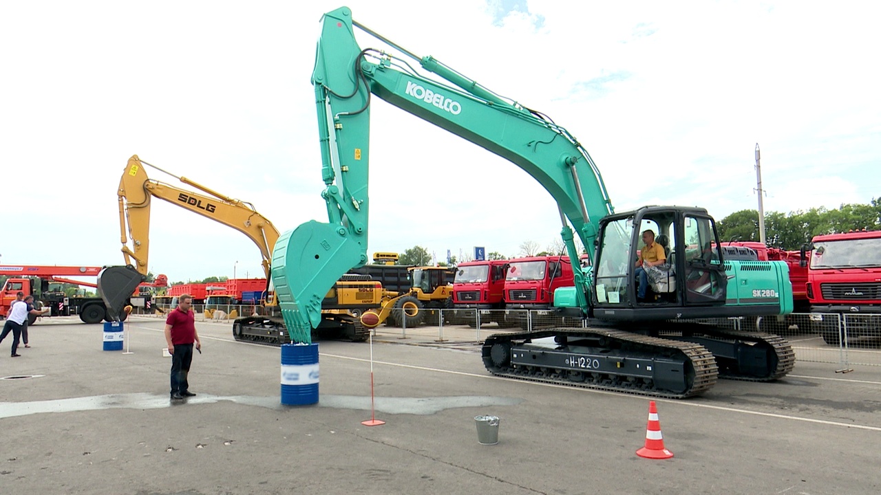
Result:
[[[497,334],[485,340],[482,355],[500,376],[677,399],[704,393],[717,378],[776,380],[795,365],[779,336],[696,323],[670,323],[656,333],[598,327]]]

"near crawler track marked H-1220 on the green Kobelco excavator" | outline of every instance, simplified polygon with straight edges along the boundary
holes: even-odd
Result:
[[[553,342],[536,343],[549,337]],[[713,354],[700,344],[616,329],[496,334],[482,356],[498,376],[675,399],[706,392],[718,376]]]

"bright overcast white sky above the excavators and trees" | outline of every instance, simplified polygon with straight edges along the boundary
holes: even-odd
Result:
[[[310,76],[322,13],[342,5],[5,2],[0,264],[122,263],[115,191],[133,154],[253,203],[281,232],[327,221]],[[566,127],[616,211],[756,209],[757,143],[766,211],[881,196],[881,30],[869,2],[346,5]],[[373,101],[369,253],[514,256],[559,237],[555,203],[520,168]],[[152,211],[153,273],[262,276],[241,233],[160,201]]]

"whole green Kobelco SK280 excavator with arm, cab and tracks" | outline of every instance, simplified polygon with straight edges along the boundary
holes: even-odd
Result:
[[[403,57],[360,48],[353,26]],[[414,69],[417,63],[433,78]],[[490,373],[682,398],[706,391],[719,376],[774,380],[792,369],[794,352],[779,336],[688,321],[792,311],[786,264],[733,259],[706,210],[615,213],[599,170],[566,129],[431,56],[401,48],[353,21],[345,7],[322,18],[313,84],[329,222],[284,233],[272,256],[293,340],[302,342],[320,321],[328,288],[367,261],[370,109],[377,96],[521,167],[556,200],[569,258],[579,258],[574,235],[590,251],[589,273],[573,263],[574,287],[554,298],[561,313],[584,324],[486,338],[482,358]],[[639,298],[635,262],[645,230],[655,233],[667,262],[645,269],[649,287]]]

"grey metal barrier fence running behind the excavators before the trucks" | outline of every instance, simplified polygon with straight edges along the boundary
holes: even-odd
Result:
[[[163,310],[173,309],[158,305]],[[196,321],[232,321],[233,319],[259,314],[255,305],[195,305]],[[396,309],[395,311],[402,311]],[[405,317],[393,317],[380,327],[384,334],[395,334],[407,338],[410,330],[437,331],[438,342],[446,342],[449,335],[444,330],[456,329],[457,335],[468,327],[474,330],[474,338],[468,341],[482,342],[485,336],[500,332],[521,332],[552,327],[587,327],[588,322],[580,318],[564,318],[550,310],[489,310],[489,309],[433,309],[425,318],[426,323],[408,328]],[[401,321],[396,327],[392,321]],[[806,314],[794,313],[786,316],[763,318],[720,318],[712,320],[692,320],[711,322],[729,329],[763,331],[784,336],[796,351],[796,360],[815,363],[830,363],[840,366],[841,371],[849,366],[881,366],[881,314]],[[375,336],[374,329],[374,336]],[[449,333],[449,332],[448,332]]]

